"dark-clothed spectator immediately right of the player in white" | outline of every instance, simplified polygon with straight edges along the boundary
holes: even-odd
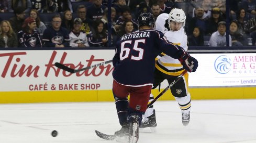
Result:
[[[204,34],[199,27],[195,27],[193,34],[188,38],[189,46],[204,46]]]

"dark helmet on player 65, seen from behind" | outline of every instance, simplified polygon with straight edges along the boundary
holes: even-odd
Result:
[[[155,19],[151,13],[142,13],[138,17],[138,25],[139,27],[142,25],[148,25],[151,28],[154,28]]]

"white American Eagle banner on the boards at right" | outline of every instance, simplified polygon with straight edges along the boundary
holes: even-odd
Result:
[[[189,86],[255,86],[255,53],[191,54],[198,69],[190,73]]]

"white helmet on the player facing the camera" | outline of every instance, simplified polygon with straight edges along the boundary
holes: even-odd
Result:
[[[185,12],[180,8],[173,8],[169,14],[168,20],[169,22],[170,21],[183,22],[182,27],[184,27],[186,22]]]

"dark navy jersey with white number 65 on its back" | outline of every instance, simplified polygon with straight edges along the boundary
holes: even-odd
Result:
[[[139,30],[123,35],[116,43],[114,80],[127,86],[153,85],[155,57],[161,52],[175,59],[185,53],[160,31]]]

